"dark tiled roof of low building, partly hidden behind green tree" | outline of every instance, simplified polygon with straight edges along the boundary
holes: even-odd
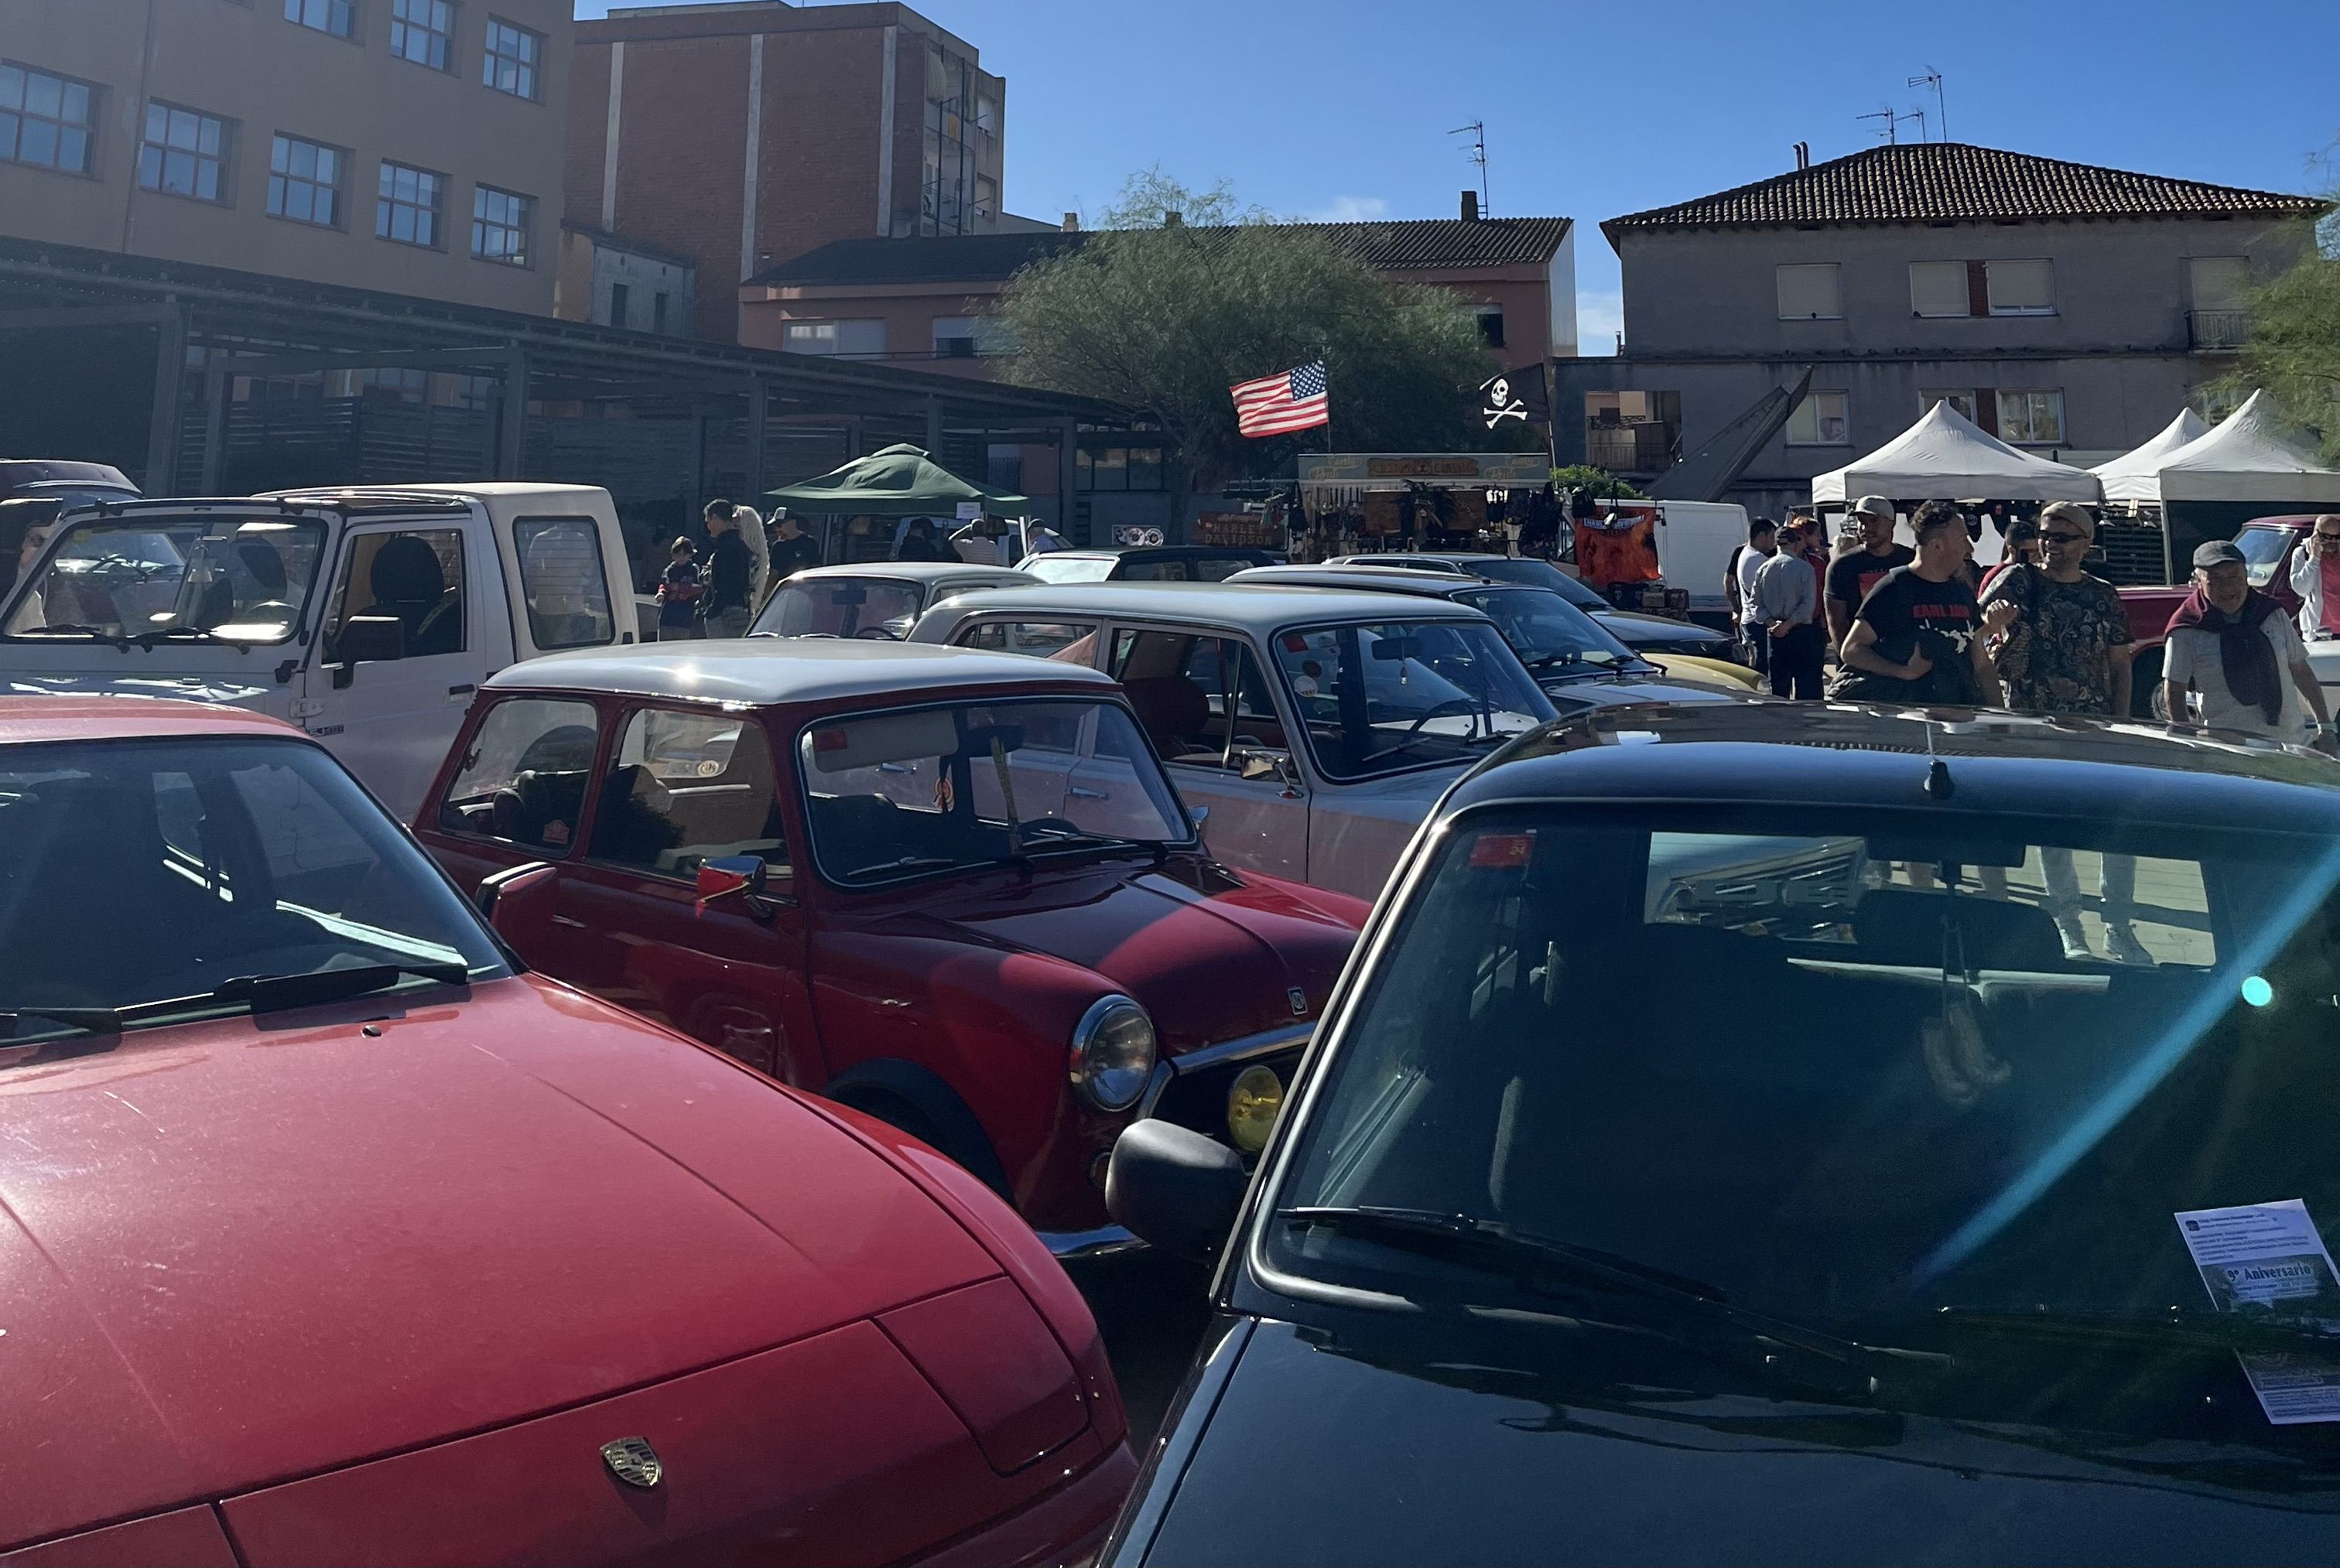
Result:
[[[1441,271],[1542,264],[1568,241],[1568,218],[1399,218],[1390,222],[1285,225],[1324,234],[1367,267]],[[1196,234],[1226,229],[1196,227]],[[753,286],[999,283],[1025,262],[1062,255],[1097,229],[1032,234],[950,234],[934,239],[838,239],[768,267]]]

